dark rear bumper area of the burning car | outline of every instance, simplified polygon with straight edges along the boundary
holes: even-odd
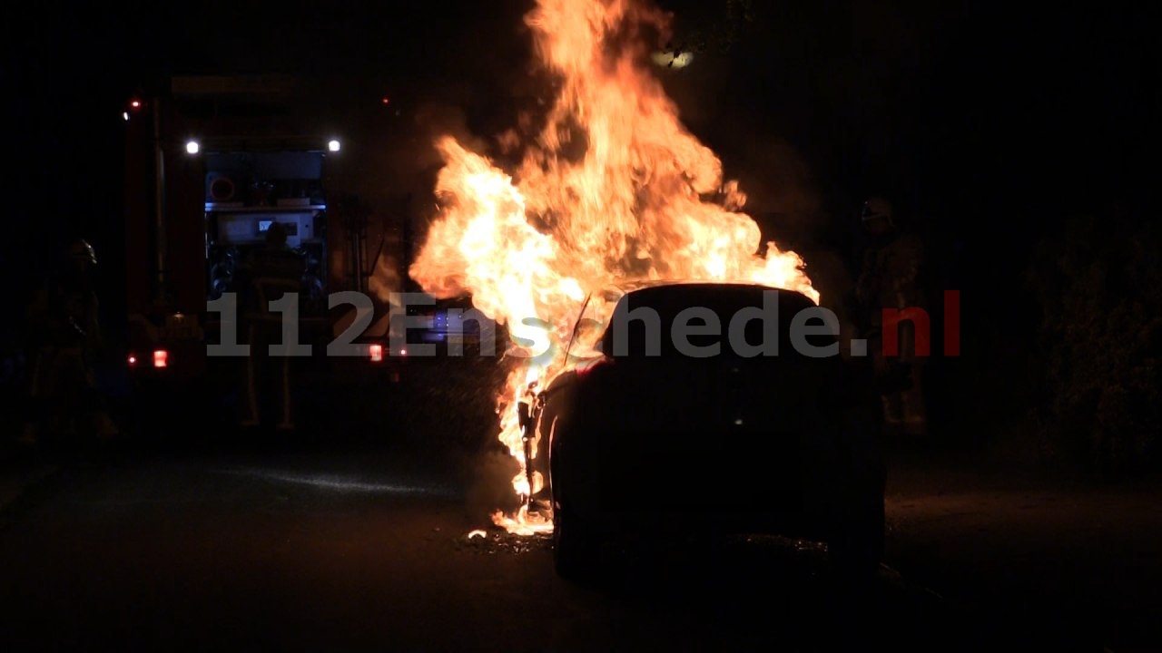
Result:
[[[551,465],[554,501],[598,531],[824,539],[877,488],[882,495],[882,482],[819,432],[602,436],[573,446],[562,437]]]

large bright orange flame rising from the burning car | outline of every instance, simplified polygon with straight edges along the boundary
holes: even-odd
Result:
[[[525,321],[545,321],[557,344],[568,340],[589,292],[627,280],[755,281],[818,302],[796,253],[774,243],[758,253],[759,225],[739,210],[745,195],[723,180],[718,157],[682,127],[648,72],[643,35],[665,34],[667,19],[630,0],[538,2],[526,22],[540,59],[560,76],[559,95],[512,174],[454,138],[436,143],[446,164],[436,188],[442,215],[410,270],[428,293],[469,293],[522,343],[544,343],[544,329]],[[536,357],[531,349],[515,350],[521,365],[497,397],[522,497],[539,488],[524,472],[517,403],[564,364],[560,346]],[[524,509],[495,522],[517,533],[551,530]]]

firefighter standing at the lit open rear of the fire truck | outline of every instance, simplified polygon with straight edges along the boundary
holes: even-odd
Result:
[[[244,326],[250,343],[246,357],[246,417],[243,426],[263,423],[264,395],[274,394],[277,402],[272,415],[280,431],[295,428],[290,402],[290,356],[294,342],[284,339],[284,314],[271,308],[287,293],[295,296],[302,289],[307,264],[303,257],[287,245],[287,232],[279,223],[266,231],[266,246],[252,252],[239,270],[239,289],[243,294]],[[281,354],[271,356],[271,345],[286,346]],[[270,379],[270,383],[264,382]],[[268,387],[273,386],[273,387]],[[273,390],[273,393],[267,393]]]

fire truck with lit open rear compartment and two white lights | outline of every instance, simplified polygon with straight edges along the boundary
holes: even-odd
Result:
[[[310,346],[295,365],[307,378],[399,380],[406,351],[390,350],[387,307],[366,293],[375,263],[360,211],[329,196],[344,150],[325,96],[281,76],[173,77],[128,100],[124,119],[125,358],[138,393],[237,385],[239,268],[274,224],[307,264],[282,311],[285,332],[294,324]]]

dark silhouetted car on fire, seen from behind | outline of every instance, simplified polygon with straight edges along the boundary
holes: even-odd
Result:
[[[525,421],[562,576],[587,575],[607,543],[691,531],[824,541],[845,573],[878,568],[878,400],[812,310],[752,284],[590,295],[569,367]]]

